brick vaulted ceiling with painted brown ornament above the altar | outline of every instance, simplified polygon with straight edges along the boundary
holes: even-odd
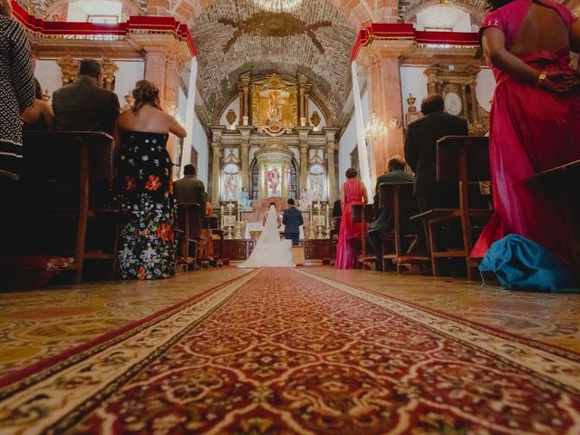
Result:
[[[213,119],[237,95],[240,73],[278,73],[312,82],[321,109],[336,120],[351,90],[356,29],[326,0],[303,0],[292,14],[253,0],[216,0],[189,25],[198,47],[198,89]]]

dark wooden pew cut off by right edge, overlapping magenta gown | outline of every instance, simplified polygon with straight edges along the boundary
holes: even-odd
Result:
[[[525,182],[535,189],[548,189],[556,195],[568,240],[572,244],[572,270],[580,282],[580,160],[545,170]]]

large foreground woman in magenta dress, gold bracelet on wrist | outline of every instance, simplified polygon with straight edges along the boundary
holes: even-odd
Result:
[[[491,0],[481,44],[498,83],[491,109],[491,178],[495,215],[471,256],[516,233],[571,257],[562,214],[548,192],[525,180],[580,159],[580,81],[569,51],[580,48],[580,25],[550,0]]]

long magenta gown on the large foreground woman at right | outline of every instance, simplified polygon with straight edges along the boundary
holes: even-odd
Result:
[[[537,0],[553,7],[570,28],[575,17],[562,5]],[[516,0],[489,13],[481,24],[498,27],[506,47],[517,34],[532,0]],[[570,71],[569,53],[545,51],[521,57],[538,71]],[[489,160],[495,214],[471,251],[482,257],[501,237],[516,233],[547,247],[566,263],[571,257],[562,214],[555,195],[530,188],[524,180],[537,172],[580,159],[580,95],[543,91],[520,82],[492,66],[498,83],[490,114]]]

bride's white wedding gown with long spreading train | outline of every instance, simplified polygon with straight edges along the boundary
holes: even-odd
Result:
[[[237,267],[294,267],[292,240],[280,240],[275,207],[270,206],[266,225],[249,258]]]

